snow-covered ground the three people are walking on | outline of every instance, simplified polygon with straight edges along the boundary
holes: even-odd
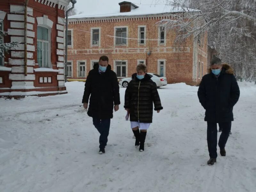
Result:
[[[67,83],[65,95],[0,99],[0,191],[256,191],[256,86],[239,85],[227,156],[213,166],[194,86],[158,89],[164,110],[154,113],[144,152],[134,148],[120,88],[104,155],[92,119],[79,111],[83,82]]]

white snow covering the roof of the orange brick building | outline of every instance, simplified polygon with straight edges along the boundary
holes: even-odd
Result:
[[[156,1],[156,0],[155,0]],[[170,12],[184,12],[180,7],[173,7],[172,5],[166,5],[158,1],[152,0],[132,0],[129,1],[138,8],[131,10],[131,12],[120,12],[119,3],[122,0],[94,0],[94,1],[81,1],[75,4],[75,8],[79,11],[83,11],[81,14],[69,16],[69,19],[78,18],[99,18],[99,17],[114,17],[114,16],[135,16],[135,15],[151,15]],[[188,12],[197,12],[199,10],[188,9]]]

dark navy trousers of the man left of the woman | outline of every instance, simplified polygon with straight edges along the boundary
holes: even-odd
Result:
[[[108,142],[108,133],[110,127],[110,119],[92,118],[93,125],[100,133],[100,148],[105,148]]]

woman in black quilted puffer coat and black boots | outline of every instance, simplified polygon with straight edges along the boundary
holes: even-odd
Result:
[[[131,128],[136,138],[135,147],[140,145],[140,151],[144,151],[147,129],[152,123],[153,102],[157,113],[163,107],[156,83],[146,73],[147,66],[139,64],[136,69],[137,73],[132,75],[132,80],[125,91],[124,108],[130,113]]]

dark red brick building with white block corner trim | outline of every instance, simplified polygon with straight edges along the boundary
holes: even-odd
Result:
[[[0,58],[0,97],[67,93],[64,85],[64,18],[70,0],[1,0],[3,41],[21,44]],[[25,32],[27,20],[27,32]],[[27,34],[27,50],[25,36]],[[27,52],[27,58],[25,58]]]

